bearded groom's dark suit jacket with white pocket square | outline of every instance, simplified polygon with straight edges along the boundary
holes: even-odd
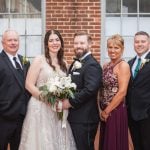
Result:
[[[92,55],[82,60],[80,69],[71,71],[72,66],[69,73],[77,85],[77,92],[75,98],[69,99],[73,108],[70,108],[68,120],[72,123],[98,122],[97,93],[102,81],[102,69]]]

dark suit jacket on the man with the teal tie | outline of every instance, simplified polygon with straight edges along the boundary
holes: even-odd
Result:
[[[135,59],[129,61],[130,68]],[[146,59],[150,59],[150,52]],[[150,116],[150,62],[140,69],[135,79],[131,76],[127,92],[127,107],[129,115],[135,121]]]

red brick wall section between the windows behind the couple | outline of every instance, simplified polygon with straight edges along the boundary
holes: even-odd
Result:
[[[72,62],[73,35],[88,31],[93,38],[92,53],[100,61],[100,0],[47,0],[46,30],[57,29],[65,42],[65,57]]]

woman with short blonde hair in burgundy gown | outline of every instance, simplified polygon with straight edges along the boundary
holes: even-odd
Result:
[[[124,40],[113,35],[107,41],[110,62],[103,67],[100,97],[100,150],[128,150],[128,119],[125,95],[130,69],[121,57]]]

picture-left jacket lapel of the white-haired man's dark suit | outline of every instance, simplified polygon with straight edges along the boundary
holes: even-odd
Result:
[[[20,85],[21,88],[24,89],[24,83],[22,83],[21,80],[18,78],[18,73],[16,72],[12,62],[10,61],[10,59],[8,58],[7,54],[4,51],[2,51],[2,56],[4,58],[4,61],[6,62],[6,64],[10,68],[10,70],[12,71],[12,73],[13,73],[14,77],[16,78],[18,84]]]

